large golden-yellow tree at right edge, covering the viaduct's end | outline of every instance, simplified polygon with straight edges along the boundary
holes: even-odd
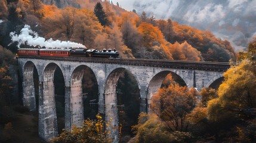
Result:
[[[224,74],[218,89],[218,98],[208,101],[211,120],[243,119],[252,116],[256,105],[255,66],[243,60]]]

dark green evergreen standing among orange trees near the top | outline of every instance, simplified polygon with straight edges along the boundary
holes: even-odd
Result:
[[[94,7],[94,14],[98,18],[98,21],[100,21],[100,24],[102,26],[106,26],[106,24],[107,24],[107,15],[104,12],[103,7],[100,4],[100,2],[97,2],[97,4]]]

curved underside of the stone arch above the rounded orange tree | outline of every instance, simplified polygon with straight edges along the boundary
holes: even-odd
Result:
[[[153,94],[155,94],[158,91],[158,89],[161,88],[163,80],[169,73],[172,74],[172,78],[176,82],[178,82],[181,86],[187,86],[184,80],[182,79],[182,77],[172,71],[165,70],[155,74],[155,76],[153,76],[153,78],[150,80],[149,87],[147,88],[147,112],[148,113],[150,113],[150,100]]]

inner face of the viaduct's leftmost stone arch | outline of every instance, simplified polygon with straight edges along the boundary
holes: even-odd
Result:
[[[36,110],[34,70],[38,73],[32,61],[27,61],[23,66],[23,105],[28,107],[30,111]]]

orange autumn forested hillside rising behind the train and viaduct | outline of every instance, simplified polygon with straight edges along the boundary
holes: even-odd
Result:
[[[180,25],[171,19],[156,20],[146,13],[137,15],[109,1],[100,1],[101,7],[95,7],[96,4],[97,1],[89,0],[1,0],[0,44],[16,51],[17,43],[10,44],[8,35],[19,34],[28,24],[46,40],[78,42],[95,49],[115,48],[123,58],[236,60],[229,41],[217,39],[209,31]],[[103,13],[97,12],[99,8]],[[21,45],[29,46],[32,45]]]

